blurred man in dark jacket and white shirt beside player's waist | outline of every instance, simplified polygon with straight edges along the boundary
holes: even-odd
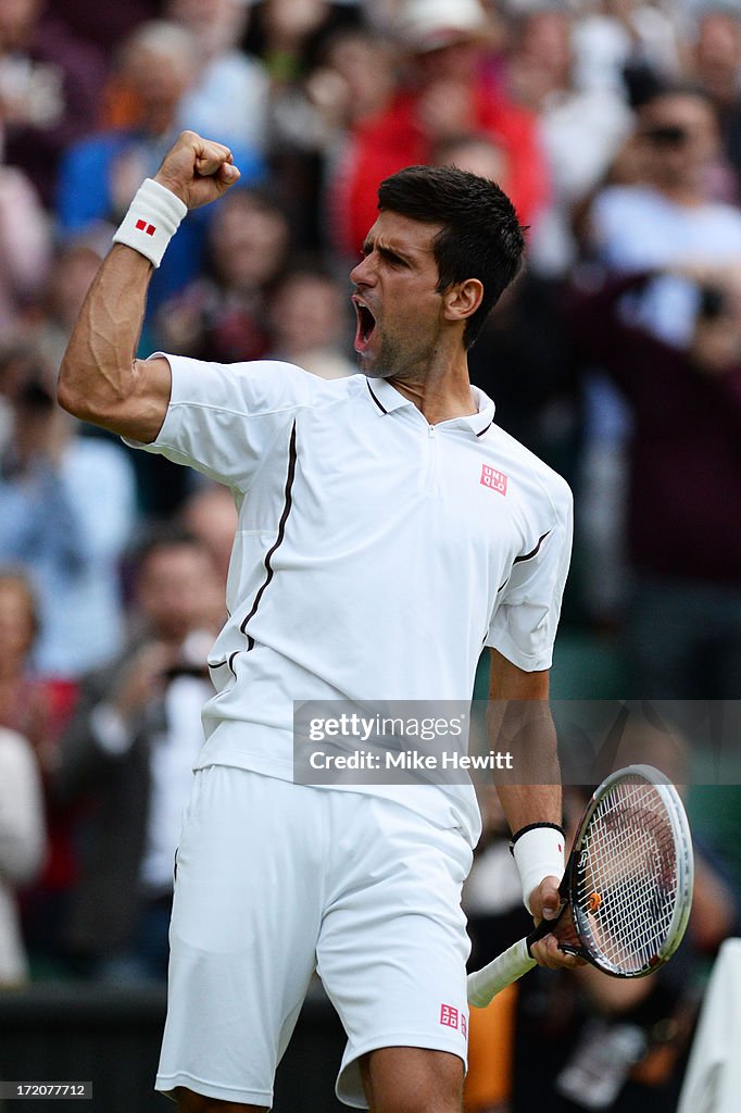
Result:
[[[60,806],[88,806],[65,942],[81,973],[107,979],[167,973],[172,859],[217,629],[218,580],[200,542],[152,535],[135,580],[139,629],[86,678],[52,784]]]

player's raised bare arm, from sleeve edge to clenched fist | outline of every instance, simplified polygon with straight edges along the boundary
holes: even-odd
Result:
[[[208,205],[238,178],[227,147],[184,131],[154,180],[174,195],[160,194],[158,204],[166,217],[172,209],[177,226],[184,205],[187,209]],[[147,240],[144,224],[142,247],[149,250],[154,240]],[[59,404],[76,417],[144,443],[159,433],[170,397],[167,359],[136,358],[152,269],[150,257],[125,244],[113,245],[72,329],[58,388]]]

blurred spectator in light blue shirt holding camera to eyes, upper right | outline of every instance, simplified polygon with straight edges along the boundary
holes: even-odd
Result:
[[[624,312],[680,348],[692,335],[696,288],[660,272],[685,264],[730,267],[741,256],[741,213],[710,193],[719,150],[718,121],[701,90],[654,91],[638,112],[626,152],[639,179],[604,188],[590,214],[593,257],[615,270],[654,272]],[[584,559],[603,570],[587,585],[585,603],[595,622],[614,627],[628,590],[623,476],[630,418],[596,371],[585,378],[584,411]]]

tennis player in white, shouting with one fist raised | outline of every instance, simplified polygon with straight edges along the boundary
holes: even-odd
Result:
[[[513,760],[532,774],[537,745],[550,784],[500,796],[525,903],[536,920],[555,914],[545,700],[571,494],[494,424],[466,364],[521,266],[522,229],[483,178],[403,170],[382,185],[350,275],[362,374],[136,359],[152,267],[188,209],[238,177],[226,147],[180,136],[115,237],[59,383],[66,410],[220,481],[239,511],[178,849],[157,1089],[181,1113],[269,1109],[316,969],[348,1037],[340,1099],[457,1113],[473,789],[294,784],[293,701],[467,701],[488,646],[494,699],[543,709]],[[535,949],[544,965],[574,964],[553,936]]]

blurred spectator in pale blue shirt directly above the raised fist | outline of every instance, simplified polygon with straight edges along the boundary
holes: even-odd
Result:
[[[166,13],[198,40],[198,76],[180,100],[180,126],[218,136],[227,146],[264,150],[268,75],[263,62],[238,47],[249,6],[244,0],[169,0]]]

